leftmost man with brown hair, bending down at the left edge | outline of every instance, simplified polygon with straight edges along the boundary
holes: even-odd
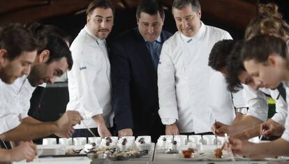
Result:
[[[7,102],[3,88],[5,83],[13,83],[17,77],[28,75],[32,62],[36,57],[38,45],[34,37],[20,24],[9,24],[0,27],[0,108]],[[14,102],[15,103],[15,102]],[[1,112],[0,112],[1,115]],[[10,117],[9,119],[13,119]],[[15,117],[14,119],[18,119]],[[0,118],[0,133],[6,129],[6,122]],[[1,141],[0,141],[1,142]],[[24,142],[14,149],[0,148],[0,163],[21,161],[33,161],[36,156],[36,145]]]

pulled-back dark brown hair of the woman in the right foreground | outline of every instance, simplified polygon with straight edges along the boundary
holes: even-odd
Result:
[[[263,63],[273,53],[287,59],[287,45],[284,40],[267,34],[254,36],[244,44],[242,61],[254,60]]]

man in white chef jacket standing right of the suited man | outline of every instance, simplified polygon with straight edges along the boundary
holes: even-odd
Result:
[[[172,14],[179,31],[163,44],[158,64],[158,114],[165,133],[206,133],[215,119],[232,124],[235,111],[225,78],[207,66],[214,43],[230,34],[200,21],[197,0],[175,0]]]

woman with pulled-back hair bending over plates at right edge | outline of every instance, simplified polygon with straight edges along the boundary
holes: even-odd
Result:
[[[288,47],[282,38],[269,35],[254,36],[247,41],[242,50],[242,60],[247,72],[253,79],[262,82],[269,89],[276,89],[284,83],[286,93],[289,89]],[[287,94],[287,100],[288,100]],[[285,131],[281,138],[273,142],[255,144],[230,138],[230,147],[235,154],[251,158],[289,155],[289,118],[286,118]],[[267,126],[261,126],[266,133]]]

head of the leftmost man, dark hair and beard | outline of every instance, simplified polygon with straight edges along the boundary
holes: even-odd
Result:
[[[3,56],[1,59],[0,77],[3,82],[12,84],[18,77],[29,74],[32,62],[21,61],[21,65],[17,65],[18,68],[22,69],[17,69],[18,71],[15,72],[16,70],[11,68],[12,66],[10,64],[12,63],[9,61],[17,59],[21,52],[31,52],[26,56],[35,59],[35,51],[38,45],[35,43],[36,40],[27,33],[28,31],[20,27],[19,24],[9,24],[6,25],[6,27],[1,27],[0,30],[0,48]],[[25,42],[23,40],[25,40]]]

